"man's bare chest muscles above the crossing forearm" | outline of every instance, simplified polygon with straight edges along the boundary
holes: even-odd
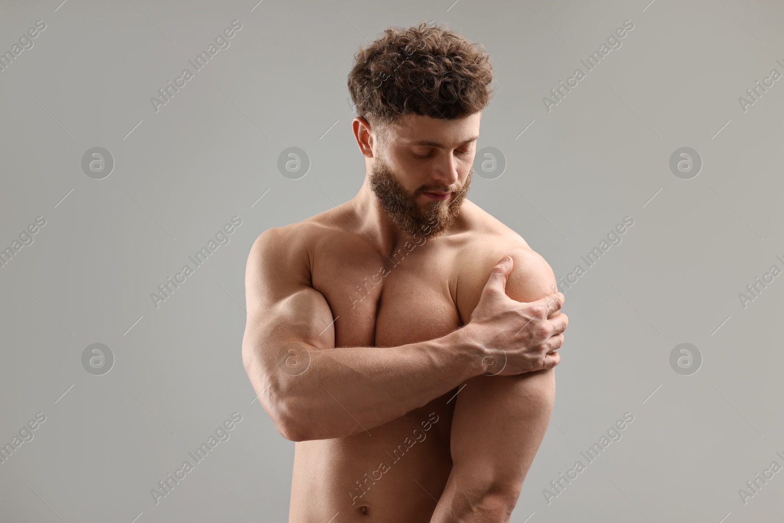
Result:
[[[448,245],[408,243],[391,256],[358,245],[314,252],[312,280],[332,309],[336,347],[397,347],[462,325]]]

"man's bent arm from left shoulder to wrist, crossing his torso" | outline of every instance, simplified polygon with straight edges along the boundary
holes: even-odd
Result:
[[[245,271],[248,316],[242,361],[285,438],[342,438],[369,431],[481,375],[498,360],[498,350],[488,347],[493,340],[483,334],[493,331],[489,322],[481,329],[467,324],[441,338],[400,347],[335,347],[332,311],[310,286],[310,254],[297,246],[296,238],[301,236],[282,228],[265,231],[253,244]],[[512,323],[506,316],[506,323]],[[524,318],[512,316],[512,332],[523,330]],[[523,336],[506,337],[519,342]],[[557,364],[557,355],[536,358],[536,365]],[[529,370],[537,369],[510,365],[506,373]]]

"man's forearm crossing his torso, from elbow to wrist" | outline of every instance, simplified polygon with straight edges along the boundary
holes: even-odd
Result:
[[[295,372],[267,362],[256,365],[267,372],[251,380],[287,438],[342,438],[397,419],[485,372],[466,327],[400,347],[299,345],[292,354],[302,366]]]

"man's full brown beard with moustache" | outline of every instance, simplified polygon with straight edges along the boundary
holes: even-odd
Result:
[[[460,205],[463,205],[463,200],[466,199],[473,173],[474,169],[471,168],[462,186],[423,185],[413,194],[408,194],[389,166],[380,158],[376,158],[368,181],[382,208],[387,211],[390,220],[401,231],[412,237],[422,234],[426,238],[435,238],[455,223]],[[434,200],[422,209],[416,202],[416,198],[427,191],[450,191],[456,194],[456,197],[452,202]]]

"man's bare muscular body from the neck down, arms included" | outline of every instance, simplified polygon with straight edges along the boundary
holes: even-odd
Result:
[[[249,255],[243,361],[296,441],[289,521],[508,521],[554,401],[553,271],[468,200],[437,238],[385,234],[369,191]]]

